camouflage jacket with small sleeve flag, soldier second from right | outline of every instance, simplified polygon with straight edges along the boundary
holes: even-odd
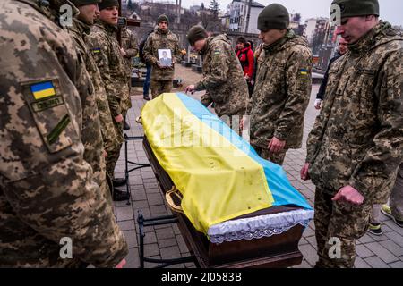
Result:
[[[270,139],[276,137],[286,141],[286,149],[302,146],[311,71],[308,43],[292,30],[278,42],[263,47],[250,100],[253,145],[267,148]]]

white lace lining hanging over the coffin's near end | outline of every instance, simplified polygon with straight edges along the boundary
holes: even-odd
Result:
[[[299,209],[279,214],[266,214],[218,223],[209,228],[212,243],[253,240],[288,231],[297,224],[304,227],[313,219],[313,210]]]

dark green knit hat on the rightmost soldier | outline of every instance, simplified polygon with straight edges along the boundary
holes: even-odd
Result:
[[[379,16],[378,0],[333,0],[332,5],[339,5],[341,18],[376,15]],[[333,12],[330,11],[330,16]]]

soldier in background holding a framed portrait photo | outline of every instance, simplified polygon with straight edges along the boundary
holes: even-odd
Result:
[[[169,20],[167,15],[160,15],[157,20],[158,26],[147,38],[144,45],[144,59],[152,64],[151,71],[151,95],[158,97],[162,93],[171,92],[172,80],[174,80],[175,63],[181,61],[178,39],[168,29]],[[172,66],[163,67],[159,63],[159,49],[170,49],[172,55]]]

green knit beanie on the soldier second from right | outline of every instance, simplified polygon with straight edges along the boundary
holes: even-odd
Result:
[[[289,13],[282,4],[270,4],[266,6],[258,17],[258,29],[287,29],[289,25]]]

